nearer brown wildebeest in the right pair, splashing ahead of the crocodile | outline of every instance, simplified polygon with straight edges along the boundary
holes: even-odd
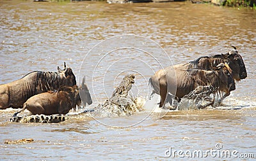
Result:
[[[234,78],[230,74],[232,70],[228,64],[219,64],[215,71],[204,69],[173,69],[172,66],[157,71],[151,76],[149,83],[154,92],[161,96],[159,108],[163,107],[168,92],[176,99],[184,97],[199,86],[210,85],[216,92],[225,92],[236,89]],[[213,103],[212,103],[213,104]],[[210,105],[210,104],[209,104]]]

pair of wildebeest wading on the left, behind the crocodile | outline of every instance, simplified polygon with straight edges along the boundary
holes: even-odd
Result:
[[[33,115],[67,114],[70,109],[92,104],[87,85],[76,85],[76,76],[64,62],[64,69],[57,72],[34,71],[11,83],[0,85],[0,109],[28,109]],[[17,115],[21,111],[15,113]]]

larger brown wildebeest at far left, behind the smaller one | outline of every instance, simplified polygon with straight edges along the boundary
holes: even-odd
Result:
[[[0,109],[21,108],[31,96],[63,85],[76,85],[76,76],[65,62],[64,69],[58,67],[58,72],[33,71],[20,80],[0,85]]]

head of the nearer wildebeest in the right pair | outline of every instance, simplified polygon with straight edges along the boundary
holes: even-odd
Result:
[[[218,74],[221,80],[221,85],[223,88],[227,87],[228,91],[230,92],[232,90],[236,90],[236,83],[234,81],[234,78],[232,76],[232,69],[228,66],[227,63],[221,63],[218,66]]]

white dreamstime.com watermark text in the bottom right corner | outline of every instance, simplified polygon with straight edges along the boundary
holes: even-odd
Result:
[[[217,143],[216,149],[210,150],[175,150],[169,148],[164,152],[165,157],[172,158],[254,158],[256,157],[253,153],[239,153],[237,150],[223,150],[221,143]]]

